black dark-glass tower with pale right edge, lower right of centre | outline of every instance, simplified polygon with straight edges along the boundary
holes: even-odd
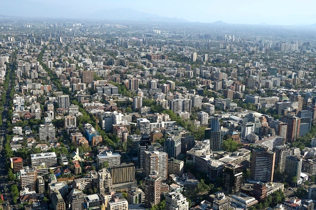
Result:
[[[239,192],[243,182],[242,171],[242,165],[236,163],[227,163],[224,165],[224,190],[226,190],[230,194]]]

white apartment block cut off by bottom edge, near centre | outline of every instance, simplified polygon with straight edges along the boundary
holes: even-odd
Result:
[[[166,210],[188,210],[189,201],[180,192],[169,192],[166,194]]]

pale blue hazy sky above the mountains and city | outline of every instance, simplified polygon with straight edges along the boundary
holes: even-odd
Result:
[[[191,22],[315,24],[315,0],[10,0],[0,14],[24,17],[80,17],[100,10],[130,8]]]

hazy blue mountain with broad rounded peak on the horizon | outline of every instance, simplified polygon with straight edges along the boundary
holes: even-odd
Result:
[[[116,8],[111,10],[100,10],[88,14],[84,18],[97,20],[119,20],[132,22],[188,22],[179,18],[167,18],[155,14],[139,12],[126,8]]]

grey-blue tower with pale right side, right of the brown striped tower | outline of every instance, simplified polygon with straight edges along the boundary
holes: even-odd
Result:
[[[295,156],[288,156],[285,163],[285,172],[289,177],[295,178],[294,186],[298,184],[302,171],[302,159]]]

